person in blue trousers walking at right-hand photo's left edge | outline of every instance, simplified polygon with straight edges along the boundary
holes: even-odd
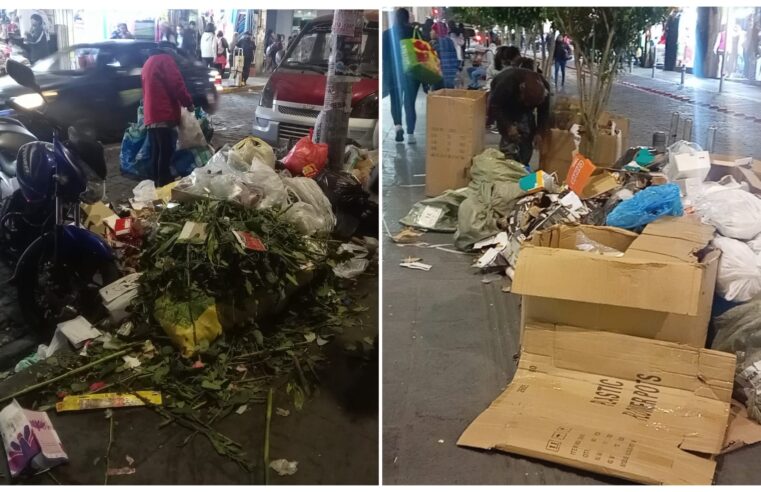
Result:
[[[394,25],[383,32],[383,89],[388,90],[391,98],[391,118],[396,127],[396,141],[404,142],[404,128],[402,127],[402,101],[407,123],[407,143],[414,144],[415,123],[415,100],[420,91],[420,81],[409,74],[404,73],[402,66],[401,40],[409,39],[413,35],[413,27],[410,24],[410,13],[407,9],[396,10]],[[440,36],[439,36],[440,37]]]

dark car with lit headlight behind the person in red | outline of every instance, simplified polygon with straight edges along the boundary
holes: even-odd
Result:
[[[142,98],[140,72],[157,44],[135,40],[110,40],[75,45],[34,64],[37,83],[47,101],[46,115],[61,126],[76,126],[99,140],[115,142],[135,121]],[[176,56],[188,91],[196,106],[214,112],[218,100],[212,72],[200,61]],[[23,100],[24,107],[42,106],[40,96],[0,77],[0,116],[21,120],[43,140],[52,137],[39,121],[17,115],[8,102]]]

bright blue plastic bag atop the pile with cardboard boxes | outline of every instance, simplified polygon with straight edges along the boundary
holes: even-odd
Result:
[[[679,187],[673,183],[650,186],[621,202],[608,214],[606,224],[637,230],[665,215],[684,214]]]

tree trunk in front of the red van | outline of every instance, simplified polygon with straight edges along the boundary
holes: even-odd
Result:
[[[362,10],[336,10],[333,14],[325,102],[317,117],[314,139],[328,144],[328,166],[336,171],[343,170],[351,89],[359,80],[357,71],[362,62],[363,27]]]

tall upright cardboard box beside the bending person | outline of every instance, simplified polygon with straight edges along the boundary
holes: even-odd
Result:
[[[484,149],[486,93],[442,89],[428,94],[425,194],[467,186],[471,159]]]

